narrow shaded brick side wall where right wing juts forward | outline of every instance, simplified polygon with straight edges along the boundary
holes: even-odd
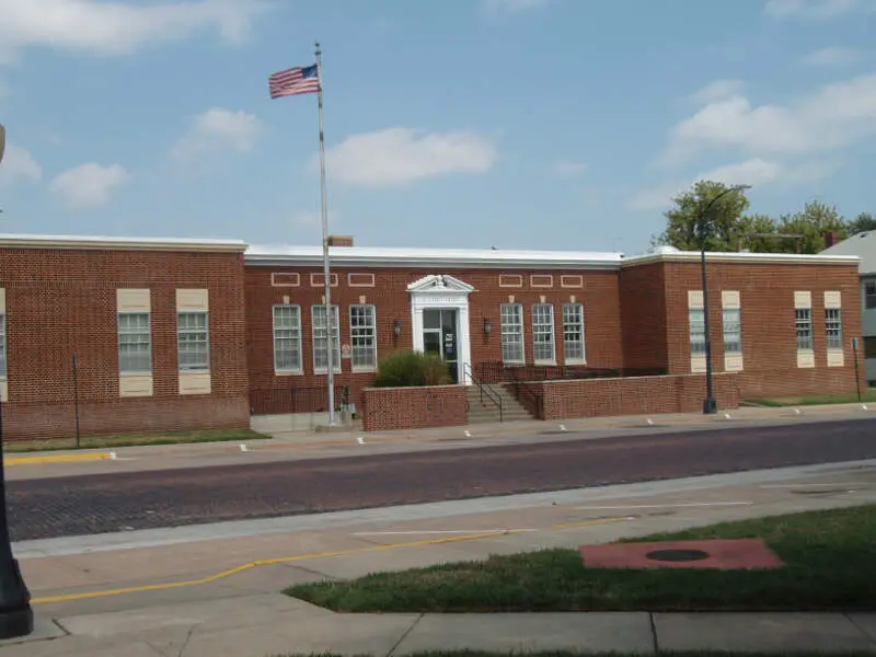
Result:
[[[620,273],[625,368],[667,368],[666,280],[661,264]]]

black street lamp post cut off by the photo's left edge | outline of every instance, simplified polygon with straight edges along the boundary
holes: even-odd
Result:
[[[5,130],[0,124],[0,162],[3,161]],[[12,554],[7,517],[7,482],[3,457],[3,416],[0,402],[0,639],[27,636],[34,631],[31,591]]]

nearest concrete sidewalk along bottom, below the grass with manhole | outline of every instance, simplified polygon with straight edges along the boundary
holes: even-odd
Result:
[[[90,634],[112,615],[112,637]],[[201,620],[198,624],[193,624]],[[94,623],[99,621],[97,625]],[[657,653],[874,653],[876,614],[492,613],[345,614],[279,595],[240,597],[64,622],[79,634],[4,646],[10,657],[408,656],[447,650]],[[60,635],[60,625],[43,632]]]

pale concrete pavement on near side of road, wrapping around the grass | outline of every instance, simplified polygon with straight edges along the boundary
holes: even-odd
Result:
[[[806,493],[806,494],[800,494]],[[39,631],[3,657],[424,650],[876,654],[876,614],[335,614],[287,586],[876,502],[876,461],[16,545]],[[246,529],[249,528],[249,529]],[[166,541],[152,541],[155,532]],[[189,534],[180,538],[178,534]],[[113,537],[117,537],[114,539]],[[100,542],[127,541],[101,551]],[[146,545],[146,546],[145,546]],[[47,546],[61,548],[55,555]],[[39,638],[54,641],[39,641]]]

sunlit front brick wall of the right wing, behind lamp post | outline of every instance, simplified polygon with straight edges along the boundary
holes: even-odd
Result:
[[[700,265],[667,263],[665,268],[670,373],[690,372],[688,290],[701,290]],[[722,290],[738,290],[741,306],[742,399],[853,392],[850,338],[861,335],[861,287],[854,265],[712,263],[707,269],[713,364],[724,370]],[[797,367],[794,291],[812,297],[816,367]],[[827,367],[825,292],[842,293],[845,367]]]

